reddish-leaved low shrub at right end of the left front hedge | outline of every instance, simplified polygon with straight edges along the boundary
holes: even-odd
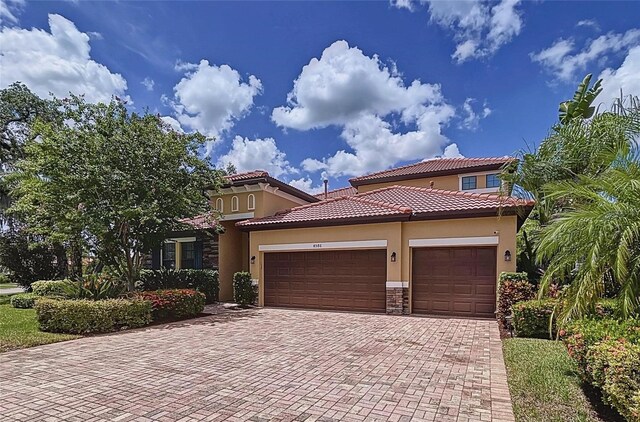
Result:
[[[204,294],[191,289],[139,292],[136,297],[151,303],[154,321],[198,316],[205,303]]]

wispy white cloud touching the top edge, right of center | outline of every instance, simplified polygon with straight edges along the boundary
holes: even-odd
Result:
[[[416,3],[391,2],[409,10],[416,10]],[[431,22],[453,32],[456,49],[451,57],[458,63],[494,55],[522,30],[520,0],[421,0],[420,3],[429,5]]]

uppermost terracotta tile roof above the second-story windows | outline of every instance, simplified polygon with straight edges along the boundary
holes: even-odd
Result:
[[[432,160],[421,161],[407,166],[396,167],[365,176],[354,177],[349,180],[352,185],[358,186],[385,179],[403,180],[416,176],[426,176],[429,174],[455,174],[458,170],[471,170],[476,168],[499,169],[504,164],[516,160],[513,157],[491,157],[491,158],[434,158]]]

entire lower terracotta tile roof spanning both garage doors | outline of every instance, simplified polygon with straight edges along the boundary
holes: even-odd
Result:
[[[355,196],[330,198],[279,214],[237,223],[239,227],[357,224],[383,220],[495,215],[498,209],[533,206],[533,201],[489,193],[390,186]]]

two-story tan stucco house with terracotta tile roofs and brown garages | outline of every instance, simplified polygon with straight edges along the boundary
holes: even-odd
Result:
[[[217,261],[222,300],[233,274],[249,271],[261,306],[492,317],[498,274],[515,271],[533,206],[499,194],[511,161],[433,159],[316,196],[263,171],[228,176],[212,196],[223,233],[202,240],[210,227],[193,220],[154,262]]]

